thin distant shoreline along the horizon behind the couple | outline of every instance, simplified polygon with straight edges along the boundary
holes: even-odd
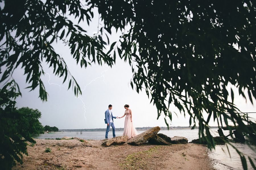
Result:
[[[153,127],[139,127],[139,128],[136,128],[138,131],[141,131],[141,130],[148,130],[148,129],[151,129]],[[161,130],[168,130],[168,127],[160,127]],[[189,126],[172,126],[172,127],[169,127],[169,130],[177,130],[177,129],[191,129],[192,127],[189,127]],[[196,126],[195,129],[198,129],[199,127]],[[218,128],[218,126],[210,126],[209,128]],[[59,129],[59,132],[63,132],[63,131],[66,131],[66,132],[72,132],[72,131],[76,131],[76,132],[79,132],[79,131],[106,131],[106,128],[96,128],[96,129]],[[123,128],[115,128],[115,131],[123,131]]]

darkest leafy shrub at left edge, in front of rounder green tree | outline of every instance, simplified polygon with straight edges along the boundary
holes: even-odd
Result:
[[[19,95],[14,82],[7,83],[0,90],[0,165],[3,169],[11,169],[13,165],[16,165],[14,160],[22,163],[22,153],[28,154],[26,143],[21,138],[28,139],[29,135],[27,132],[17,129],[20,117],[13,99]],[[32,139],[28,140],[33,142]]]

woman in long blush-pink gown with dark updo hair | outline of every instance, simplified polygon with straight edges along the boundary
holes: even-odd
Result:
[[[123,135],[127,135],[131,139],[132,137],[135,137],[138,135],[137,130],[133,127],[133,120],[132,120],[132,111],[129,108],[129,105],[124,105],[125,108],[125,114],[122,116],[125,117],[125,126],[123,128]],[[117,117],[117,118],[122,118],[122,117]]]

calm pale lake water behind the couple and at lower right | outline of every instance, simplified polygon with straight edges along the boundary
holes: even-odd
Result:
[[[112,130],[112,129],[110,129]],[[213,136],[219,136],[217,130],[218,129],[210,129],[212,131]],[[138,131],[138,133],[142,133],[144,131]],[[224,135],[228,135],[228,131],[223,131]],[[169,137],[174,136],[183,136],[188,139],[188,142],[191,142],[193,139],[198,139],[198,129],[172,129],[172,130],[160,130],[159,133],[163,133]],[[116,131],[116,136],[122,136],[123,131]],[[38,139],[55,139],[55,138],[62,138],[64,136],[67,137],[79,137],[81,139],[94,139],[94,140],[100,140],[105,138],[105,131],[82,131],[82,134],[79,132],[56,132],[54,134],[41,134],[38,137]],[[109,138],[112,137],[112,131],[108,133]],[[250,156],[251,159],[254,161],[254,164],[256,164],[256,147],[254,145],[251,145],[251,148],[245,144],[245,143],[232,143],[232,145],[236,146],[240,152],[243,152],[245,154],[245,157]],[[228,149],[230,151],[231,158],[228,154]],[[239,155],[237,154],[236,150],[233,149],[230,145],[216,145],[215,150],[208,151],[209,157],[212,159],[212,164],[215,169],[219,170],[231,170],[231,169],[237,169],[242,170],[242,163],[240,160]],[[249,160],[247,159],[247,165],[248,169],[253,169],[251,166]]]

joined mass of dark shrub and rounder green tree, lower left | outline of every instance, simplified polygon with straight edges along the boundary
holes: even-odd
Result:
[[[11,169],[16,162],[22,163],[22,154],[28,155],[27,143],[36,143],[31,137],[34,133],[43,133],[38,121],[41,112],[28,107],[15,107],[16,92],[14,81],[0,89],[0,164],[3,169]]]

